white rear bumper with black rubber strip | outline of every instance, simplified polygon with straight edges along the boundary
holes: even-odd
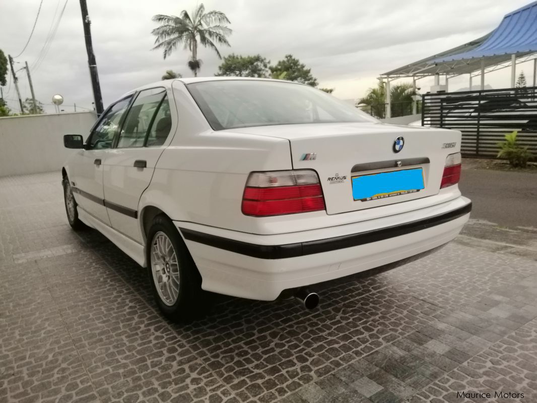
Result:
[[[451,241],[468,221],[471,202],[458,197],[420,210],[330,228],[256,235],[174,221],[202,288],[274,300],[286,289],[380,267]]]

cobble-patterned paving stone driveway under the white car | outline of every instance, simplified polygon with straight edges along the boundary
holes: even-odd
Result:
[[[458,241],[318,287],[313,312],[221,298],[179,326],[144,270],[71,231],[60,179],[0,178],[0,402],[537,401],[532,258]]]

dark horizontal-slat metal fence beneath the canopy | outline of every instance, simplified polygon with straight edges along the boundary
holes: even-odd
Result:
[[[517,131],[537,157],[537,87],[425,94],[422,104],[422,125],[460,130],[465,156],[496,156],[504,135]]]

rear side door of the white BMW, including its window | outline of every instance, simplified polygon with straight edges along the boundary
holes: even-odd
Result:
[[[105,206],[114,229],[142,243],[138,203],[153,176],[158,158],[168,144],[172,128],[170,102],[163,87],[136,95],[114,148],[104,163]],[[172,124],[173,123],[173,124]]]

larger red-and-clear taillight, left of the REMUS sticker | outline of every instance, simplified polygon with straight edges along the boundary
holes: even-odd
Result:
[[[255,217],[325,210],[317,173],[308,169],[252,172],[242,197],[242,212]]]

